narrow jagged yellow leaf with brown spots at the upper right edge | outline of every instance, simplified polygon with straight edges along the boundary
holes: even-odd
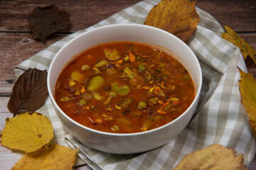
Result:
[[[225,29],[227,30],[227,32],[223,33],[222,37],[225,40],[228,40],[229,42],[233,43],[235,46],[240,48],[240,51],[242,53],[242,57],[244,58],[244,60],[249,55],[256,64],[256,60],[255,60],[256,51],[244,39],[240,38],[240,35],[235,33],[234,30],[232,30],[228,26],[225,26]]]

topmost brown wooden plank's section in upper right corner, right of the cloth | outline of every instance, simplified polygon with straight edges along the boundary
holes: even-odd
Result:
[[[196,6],[210,13],[221,26],[229,26],[235,31],[256,31],[255,0],[198,0]]]

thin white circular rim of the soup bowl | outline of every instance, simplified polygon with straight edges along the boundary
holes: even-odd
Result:
[[[154,29],[154,30],[157,30],[157,31],[160,31],[160,32],[163,32],[163,33],[166,33],[166,35],[169,35],[171,36],[172,38],[178,40],[179,42],[181,42],[186,48],[188,51],[190,51],[193,55],[193,57],[195,57],[195,61],[197,64],[197,67],[199,67],[199,82],[198,82],[198,91],[196,91],[196,96],[195,98],[193,99],[191,105],[186,109],[186,111],[184,111],[181,115],[178,116],[178,118],[176,118],[175,120],[172,120],[171,122],[169,123],[166,123],[165,125],[161,125],[159,126],[158,128],[154,128],[152,130],[147,130],[147,131],[144,131],[144,132],[133,132],[133,133],[112,133],[112,132],[104,132],[104,131],[100,131],[100,130],[95,130],[95,129],[92,129],[92,128],[89,128],[85,125],[82,125],[78,122],[76,122],[75,120],[73,120],[72,118],[70,118],[67,114],[65,114],[64,111],[62,111],[62,109],[58,106],[58,104],[56,103],[55,101],[55,98],[54,98],[54,91],[53,91],[53,94],[52,94],[52,91],[50,90],[50,83],[52,80],[50,80],[50,72],[52,72],[51,70],[53,70],[53,63],[55,62],[55,60],[57,60],[57,57],[58,55],[65,49],[65,47],[67,47],[68,45],[72,44],[74,41],[78,40],[79,38],[81,38],[82,36],[86,35],[86,34],[89,34],[91,32],[95,32],[95,31],[98,31],[98,30],[102,30],[102,29],[105,29],[105,28],[112,28],[112,27],[119,27],[119,26],[132,26],[132,27],[143,27],[143,28],[146,28],[146,29]],[[131,41],[132,42],[132,41]],[[135,41],[134,41],[135,42]],[[103,42],[104,43],[107,43],[107,42]],[[94,47],[95,45],[92,45],[92,47]],[[89,47],[90,48],[90,47]],[[78,52],[79,54],[79,52]],[[72,56],[74,57],[74,56]],[[72,59],[72,57],[70,57],[70,60]],[[176,59],[177,60],[177,59]],[[63,68],[65,67],[65,65],[63,66]],[[56,82],[53,82],[54,84]],[[181,39],[177,38],[175,35],[167,32],[166,30],[162,30],[160,28],[156,28],[156,27],[153,27],[153,26],[146,26],[146,25],[142,25],[142,24],[137,24],[137,23],[115,23],[115,24],[110,24],[110,25],[107,25],[107,26],[100,26],[100,27],[97,27],[97,28],[93,28],[91,30],[87,30],[85,31],[84,33],[81,33],[80,35],[78,35],[77,37],[73,38],[72,40],[70,40],[69,42],[67,42],[65,45],[63,45],[63,47],[60,48],[60,50],[58,50],[58,52],[55,54],[55,56],[53,57],[53,60],[50,62],[50,66],[48,68],[48,75],[47,75],[47,87],[48,87],[48,94],[50,96],[50,99],[51,99],[51,102],[53,104],[53,107],[56,107],[58,109],[58,111],[63,115],[65,116],[65,118],[67,118],[71,123],[75,124],[75,125],[78,125],[80,128],[83,128],[85,130],[89,130],[91,132],[95,132],[97,134],[100,134],[100,135],[107,135],[107,136],[118,136],[118,137],[129,137],[129,136],[139,136],[139,135],[145,135],[145,134],[148,134],[148,133],[151,133],[151,132],[155,132],[155,131],[158,131],[158,130],[161,130],[163,128],[166,128],[166,126],[169,126],[170,124],[172,123],[175,123],[176,121],[178,121],[179,119],[181,119],[183,116],[186,115],[186,113],[191,109],[191,107],[198,101],[198,98],[200,96],[200,93],[201,93],[201,87],[202,87],[202,84],[203,84],[203,75],[202,75],[202,69],[201,69],[201,65],[199,64],[198,62],[198,58],[196,57],[196,55],[194,54],[194,52],[191,50],[190,47],[188,47],[188,45],[186,45],[185,42],[183,42]],[[196,86],[196,84],[194,83],[194,86]],[[55,89],[55,88],[54,88]],[[194,113],[193,113],[194,114]],[[64,125],[65,126],[65,125]]]

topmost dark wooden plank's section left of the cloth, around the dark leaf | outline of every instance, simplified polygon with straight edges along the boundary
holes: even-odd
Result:
[[[0,31],[6,32],[29,32],[28,16],[34,8],[38,6],[49,6],[56,4],[59,9],[68,13],[70,18],[70,28],[65,29],[65,32],[74,32],[75,30],[85,29],[98,23],[105,18],[117,13],[124,8],[132,6],[141,0],[126,0],[126,1],[100,1],[100,0],[56,0],[51,1],[0,1]]]

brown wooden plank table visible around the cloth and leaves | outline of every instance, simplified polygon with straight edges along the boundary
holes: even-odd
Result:
[[[56,0],[58,8],[68,12],[69,28],[50,35],[46,43],[33,40],[28,26],[28,16],[37,6],[49,6],[43,0],[0,1],[0,130],[5,119],[12,114],[6,105],[16,81],[14,66],[61,38],[98,23],[141,0]],[[221,26],[230,26],[254,49],[256,49],[256,1],[255,0],[198,0],[196,6],[210,13]],[[249,57],[247,57],[249,58]],[[247,69],[256,77],[256,65],[247,59]],[[0,169],[11,169],[19,157],[10,149],[0,146]],[[90,169],[82,166],[75,169]],[[249,166],[256,169],[256,158]]]

